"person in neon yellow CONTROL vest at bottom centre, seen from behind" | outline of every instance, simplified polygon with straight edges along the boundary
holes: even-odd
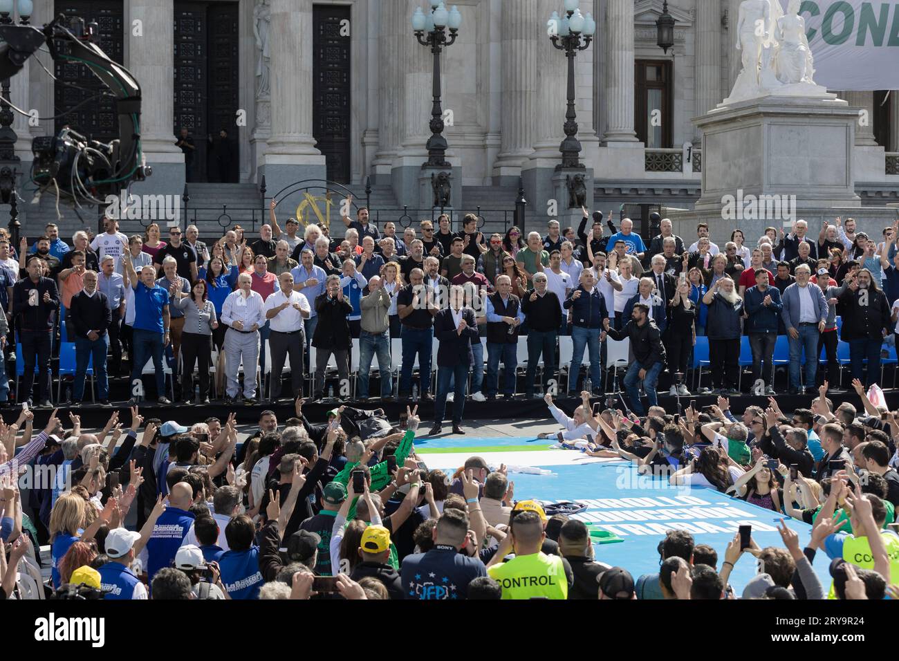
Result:
[[[571,567],[564,558],[540,550],[546,537],[536,512],[525,511],[512,519],[511,534],[487,566],[487,574],[503,588],[503,599],[568,598]],[[512,550],[515,557],[501,562]]]

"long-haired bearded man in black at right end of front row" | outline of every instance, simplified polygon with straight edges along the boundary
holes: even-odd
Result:
[[[890,304],[868,269],[862,269],[848,282],[840,302],[843,305],[841,339],[849,343],[852,378],[868,388],[880,376],[880,348],[890,325]],[[866,358],[868,379],[862,380]]]

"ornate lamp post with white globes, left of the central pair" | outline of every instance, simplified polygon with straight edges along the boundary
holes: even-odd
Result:
[[[462,14],[456,5],[447,11],[442,0],[430,0],[431,12],[418,7],[412,14],[412,29],[423,46],[430,46],[434,57],[433,97],[431,109],[431,138],[428,138],[428,160],[424,167],[449,167],[446,159],[447,140],[443,137],[443,109],[441,108],[441,52],[456,41],[462,24]],[[449,35],[447,34],[449,30]]]

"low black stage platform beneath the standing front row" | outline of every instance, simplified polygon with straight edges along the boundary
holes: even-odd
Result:
[[[899,390],[886,390],[885,394],[886,401],[891,408],[899,406]],[[856,408],[858,408],[859,410],[861,409],[859,396],[856,395],[855,392],[832,395],[830,398],[833,402],[833,406],[838,406],[842,402],[848,401],[853,406],[856,406]],[[811,406],[813,397],[811,395],[800,396],[779,394],[775,396],[775,399],[780,406],[780,410],[789,413],[797,408],[807,408],[808,406]],[[701,408],[702,406],[715,404],[717,402],[717,396],[692,395],[690,397],[681,397],[681,410],[682,408],[690,406],[691,400],[695,401],[696,406]],[[600,397],[593,397],[591,401],[593,403],[602,401],[603,406],[605,406],[604,398],[601,399]],[[624,397],[624,401],[629,405],[627,397]],[[569,415],[574,411],[574,408],[576,406],[579,406],[581,403],[579,399],[576,399],[574,397],[556,398],[555,402],[556,406],[564,410]],[[663,406],[663,408],[669,413],[673,414],[679,412],[679,402],[677,397],[671,397],[668,395],[660,396],[658,398],[658,403],[659,406]],[[325,399],[320,402],[307,400],[303,405],[303,411],[311,422],[322,422],[325,420],[325,414],[329,410],[342,405],[364,409],[383,408],[385,414],[387,415],[387,418],[392,422],[396,422],[400,413],[405,413],[405,407],[407,404],[411,404],[414,406],[416,402],[396,399],[392,401],[381,402],[381,400],[378,398],[369,399],[365,403],[354,402],[352,400],[342,402],[337,399]],[[752,405],[762,407],[768,406],[768,397],[754,397],[751,395],[730,397],[730,408],[731,411],[734,412],[734,414],[741,414],[747,406]],[[624,408],[624,406],[622,406],[622,401],[620,398],[616,400],[615,407],[621,409]],[[106,424],[106,421],[109,420],[111,408],[119,410],[124,409],[124,415],[120,415],[120,420],[127,425],[129,422],[127,401],[113,401],[111,403],[111,407],[103,407],[98,404],[92,404],[90,402],[84,402],[80,406],[67,406],[65,404],[62,404],[59,406],[59,411],[61,414],[63,414],[63,420],[66,422],[66,424],[68,417],[67,412],[69,410],[72,410],[75,411],[78,415],[81,415],[82,426],[84,426],[85,428],[93,428],[102,427],[104,424]],[[280,400],[280,403],[277,405],[256,404],[254,406],[245,406],[243,402],[238,402],[237,404],[228,406],[222,400],[212,400],[209,405],[192,406],[185,406],[182,404],[161,406],[156,404],[155,400],[148,400],[147,402],[140,403],[141,415],[144,415],[144,417],[158,417],[164,421],[177,420],[182,424],[202,422],[210,416],[215,416],[221,420],[225,420],[231,412],[236,412],[237,421],[239,423],[252,424],[258,421],[259,414],[266,409],[271,409],[272,411],[274,411],[275,414],[278,415],[278,419],[280,421],[287,420],[289,417],[295,415],[293,402],[287,399]],[[51,409],[35,409],[35,415],[38,420],[37,424],[40,424],[40,420],[46,419],[49,410]],[[422,418],[422,426],[424,428],[423,431],[427,431],[427,429],[430,429],[431,423],[433,421],[433,410],[433,402],[423,402],[418,406],[418,415]],[[452,405],[448,404],[447,413],[449,414],[451,410]],[[18,406],[13,405],[10,408],[6,408],[0,411],[0,413],[3,414],[3,418],[6,423],[10,424],[15,421],[15,418],[18,415]],[[543,401],[542,397],[538,397],[535,399],[525,399],[524,397],[519,396],[515,397],[512,400],[498,397],[495,401],[486,402],[476,402],[469,398],[465,403],[463,426],[465,426],[465,420],[532,420],[535,418],[539,419],[543,417],[549,417],[549,412],[547,409],[547,405]],[[449,420],[444,422],[444,427],[449,428]]]

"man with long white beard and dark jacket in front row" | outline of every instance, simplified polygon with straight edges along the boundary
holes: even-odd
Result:
[[[706,334],[712,387],[722,396],[739,395],[737,383],[740,378],[743,299],[736,293],[734,281],[725,275],[715,281],[702,297],[702,302],[708,305]]]

